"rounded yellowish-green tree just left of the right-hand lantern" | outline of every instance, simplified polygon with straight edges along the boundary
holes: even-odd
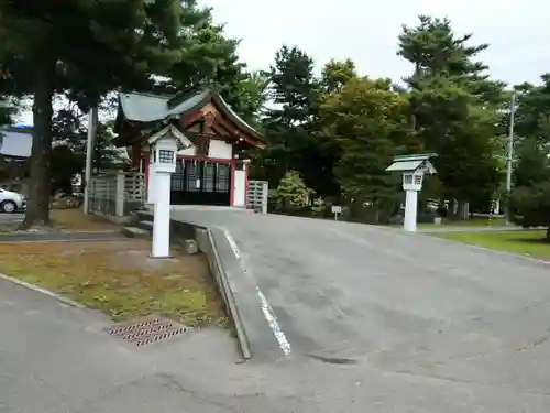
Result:
[[[321,105],[327,138],[339,150],[334,175],[352,219],[378,222],[400,197],[398,178],[385,170],[403,148],[407,101],[389,79],[354,78]],[[364,207],[373,214],[364,216]]]

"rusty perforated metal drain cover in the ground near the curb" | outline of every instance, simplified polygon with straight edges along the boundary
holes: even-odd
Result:
[[[122,323],[108,329],[108,334],[132,343],[136,346],[155,343],[178,336],[190,328],[172,319],[148,316],[138,320]]]

